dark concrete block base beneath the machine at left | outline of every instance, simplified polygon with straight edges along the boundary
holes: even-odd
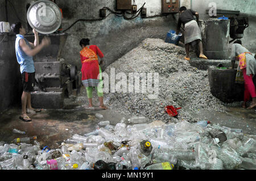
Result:
[[[31,92],[31,104],[34,108],[60,109],[64,107],[63,92]]]

